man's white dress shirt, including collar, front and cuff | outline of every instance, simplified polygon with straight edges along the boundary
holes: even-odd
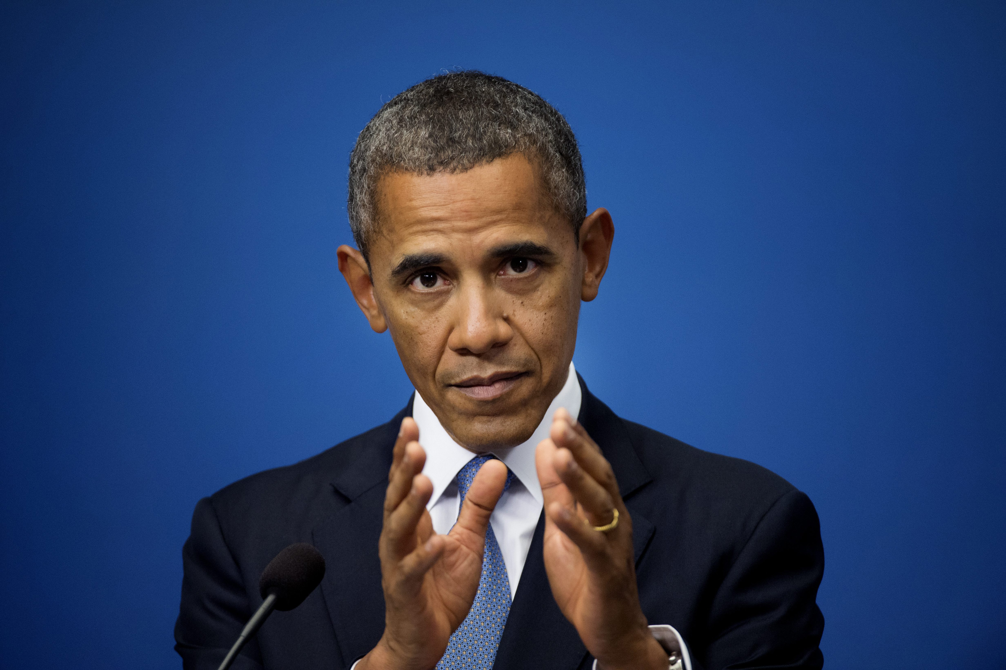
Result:
[[[488,452],[505,463],[514,475],[510,487],[500,496],[489,518],[510,579],[511,598],[517,595],[520,574],[524,570],[534,528],[538,525],[538,517],[541,516],[544,505],[541,484],[534,467],[534,450],[539,442],[548,437],[555,410],[565,407],[570,415],[578,416],[581,400],[582,392],[576,378],[576,369],[569,363],[569,375],[565,384],[548,405],[544,417],[530,439],[516,447]],[[454,441],[418,391],[412,399],[412,418],[420,428],[420,444],[427,453],[423,474],[434,484],[427,509],[430,510],[434,531],[446,535],[458,520],[460,506],[456,477],[476,455]],[[676,630],[670,626],[651,626],[650,630],[668,652],[677,652],[682,657],[680,664],[671,666],[672,670],[691,670],[688,650]],[[355,663],[353,667],[356,667]]]

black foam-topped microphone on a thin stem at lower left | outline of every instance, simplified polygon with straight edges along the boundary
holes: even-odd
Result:
[[[325,559],[318,549],[307,542],[291,544],[276,554],[276,558],[269,561],[259,579],[259,593],[265,599],[262,607],[248,620],[218,670],[230,667],[244,643],[255,637],[269,615],[273,614],[273,610],[293,610],[318,588],[323,576]]]

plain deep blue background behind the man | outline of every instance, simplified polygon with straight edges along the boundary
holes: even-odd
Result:
[[[41,3],[0,14],[0,665],[174,668],[196,500],[389,418],[348,153],[540,93],[617,235],[574,358],[817,505],[833,668],[1006,667],[1002,3]]]

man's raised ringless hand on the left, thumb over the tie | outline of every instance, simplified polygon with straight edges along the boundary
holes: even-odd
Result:
[[[422,474],[427,454],[418,438],[418,427],[406,416],[394,443],[380,534],[384,634],[357,670],[434,668],[479,589],[486,528],[506,484],[506,466],[495,459],[482,466],[458,522],[438,535],[427,511],[434,487]]]

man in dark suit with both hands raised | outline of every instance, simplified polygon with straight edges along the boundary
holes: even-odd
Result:
[[[282,548],[321,589],[237,668],[820,668],[817,514],[786,481],[616,416],[571,360],[614,225],[565,120],[479,72],[388,102],[339,268],[416,392],[390,423],[196,506],[176,649],[215,668]]]

